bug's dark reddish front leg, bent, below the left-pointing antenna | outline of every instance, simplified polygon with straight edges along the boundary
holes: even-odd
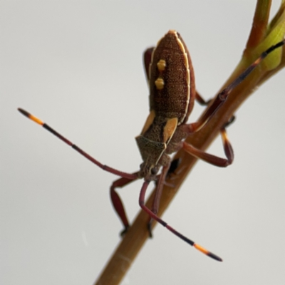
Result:
[[[134,175],[137,176],[138,172],[135,172]],[[123,236],[126,232],[128,232],[128,228],[130,227],[130,224],[128,222],[127,215],[125,214],[125,207],[123,205],[122,199],[120,199],[120,196],[115,191],[116,188],[122,188],[125,185],[128,185],[130,182],[135,181],[135,179],[128,179],[125,177],[119,178],[118,180],[115,180],[110,187],[110,198],[113,204],[113,207],[115,209],[115,212],[117,212],[121,222],[123,223],[124,229],[120,233],[121,236]]]

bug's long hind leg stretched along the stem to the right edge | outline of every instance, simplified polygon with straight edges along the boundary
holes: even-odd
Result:
[[[196,123],[188,125],[188,131],[190,133],[195,133],[198,130],[200,130],[207,123],[207,121],[210,118],[212,118],[214,113],[216,113],[217,110],[219,110],[219,108],[224,104],[225,100],[227,100],[227,97],[232,92],[232,90],[236,88],[239,85],[239,83],[242,83],[242,81],[244,81],[244,79],[247,78],[247,76],[249,76],[250,73],[252,73],[254,68],[256,68],[259,65],[259,63],[261,63],[261,61],[263,61],[263,59],[266,58],[266,56],[269,53],[274,51],[276,48],[283,46],[284,43],[285,40],[280,41],[279,43],[276,43],[276,45],[271,46],[266,51],[261,53],[261,56],[259,56],[259,58],[257,58],[257,60],[254,61],[254,63],[252,63],[244,72],[240,74],[239,77],[237,77],[232,83],[229,84],[229,86],[224,88],[224,90],[222,90],[222,92],[217,95],[217,97],[211,103],[211,106],[209,107],[207,112],[204,113],[204,115],[202,115],[202,117]]]

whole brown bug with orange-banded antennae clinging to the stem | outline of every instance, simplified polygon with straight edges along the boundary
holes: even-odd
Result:
[[[81,153],[81,155],[95,165],[98,165],[98,167],[113,173],[114,175],[120,176],[120,178],[115,180],[110,187],[110,197],[115,211],[118,213],[121,222],[123,222],[124,232],[128,230],[129,222],[125,214],[123,202],[116,192],[116,188],[124,187],[134,180],[143,178],[144,182],[140,190],[139,204],[140,207],[149,214],[150,219],[156,220],[162,224],[162,226],[170,230],[170,232],[177,237],[180,237],[180,239],[195,247],[200,252],[217,261],[222,261],[216,254],[209,252],[191,239],[180,234],[180,232],[177,232],[170,227],[170,225],[160,219],[160,217],[157,217],[165,177],[167,176],[167,173],[171,174],[174,172],[177,167],[175,165],[177,162],[172,162],[171,164],[170,155],[183,149],[190,155],[209,162],[212,165],[217,165],[219,167],[230,165],[234,159],[234,152],[225,130],[228,123],[221,129],[224,153],[227,158],[217,157],[202,150],[198,150],[192,145],[187,144],[185,138],[200,130],[207,121],[212,118],[225,100],[227,100],[229,93],[231,93],[232,90],[241,83],[269,53],[271,53],[271,51],[284,45],[284,43],[285,40],[277,43],[275,46],[271,46],[271,48],[264,51],[264,53],[261,53],[261,56],[259,56],[249,68],[219,93],[217,98],[210,103],[210,107],[207,112],[204,113],[202,118],[197,120],[197,122],[190,124],[187,124],[187,119],[194,106],[195,98],[200,103],[205,102],[196,93],[195,76],[190,53],[187,51],[187,47],[182,40],[182,37],[177,31],[170,30],[157,43],[156,48],[147,49],[147,51],[145,51],[144,60],[145,71],[150,87],[150,114],[142,128],[142,132],[135,138],[142,156],[142,164],[140,165],[140,170],[132,174],[115,170],[108,165],[103,165],[101,162],[98,162],[98,160],[95,160],[95,158],[88,155],[88,153],[81,150],[80,147],[73,144],[73,142],[57,133],[56,130],[53,130],[53,128],[46,123],[43,123],[41,120],[21,108],[19,108],[19,111],[34,122],[42,125],[43,128],[53,133],[53,135],[56,135],[56,137],[63,140],[63,142],[66,142],[66,144],[70,145],[74,150]],[[160,169],[162,170],[160,174],[158,174]],[[145,192],[151,181],[157,182],[157,190],[152,209],[150,210],[145,206]]]

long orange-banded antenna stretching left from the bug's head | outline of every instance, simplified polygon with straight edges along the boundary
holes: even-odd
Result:
[[[108,165],[103,165],[102,163],[98,162],[98,160],[95,160],[95,158],[93,158],[90,155],[88,155],[88,153],[86,153],[85,151],[81,150],[81,148],[79,148],[77,145],[74,145],[73,142],[71,142],[67,138],[64,138],[63,135],[61,135],[60,133],[56,132],[56,130],[53,130],[53,128],[51,128],[49,125],[47,125],[46,123],[43,123],[43,121],[41,121],[40,119],[36,118],[34,115],[31,115],[30,113],[28,113],[27,111],[25,111],[25,110],[23,110],[21,108],[18,108],[18,110],[24,116],[26,116],[30,120],[33,120],[33,122],[37,123],[38,125],[43,126],[43,128],[45,128],[46,130],[51,132],[57,138],[61,139],[63,142],[66,142],[66,144],[71,146],[73,148],[73,150],[76,150],[81,155],[83,155],[83,157],[86,157],[88,160],[90,160],[90,162],[93,162],[95,165],[97,165],[98,167],[102,168],[103,170],[108,171],[110,173],[113,173],[115,175],[118,175],[120,177],[128,178],[130,180],[134,180],[134,179],[138,178],[136,175],[133,175],[133,174],[130,174],[130,173],[125,173],[125,172],[122,172],[122,171],[119,171],[119,170],[115,170],[114,168],[109,167]]]

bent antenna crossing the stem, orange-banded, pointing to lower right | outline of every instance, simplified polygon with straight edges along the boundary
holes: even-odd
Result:
[[[170,232],[172,232],[173,234],[175,234],[177,237],[180,237],[180,239],[184,240],[185,242],[187,242],[187,244],[190,244],[192,247],[195,247],[195,249],[198,249],[199,252],[202,252],[203,254],[206,254],[208,257],[212,257],[212,259],[215,259],[217,261],[222,261],[222,259],[220,257],[218,257],[216,254],[213,254],[212,252],[209,252],[207,249],[204,249],[204,247],[201,247],[199,244],[196,244],[195,242],[193,242],[191,239],[188,239],[187,237],[185,237],[183,234],[180,234],[180,232],[177,232],[175,229],[173,229],[172,227],[170,227],[170,225],[168,225],[165,221],[163,221],[162,219],[160,219],[159,217],[157,217],[157,215],[155,213],[153,213],[152,211],[150,211],[150,209],[148,209],[145,206],[145,192],[147,190],[147,186],[150,184],[149,181],[145,181],[142,185],[142,189],[140,190],[140,198],[139,198],[139,204],[140,207],[147,212],[147,214],[150,215],[150,217],[152,217],[152,219],[155,219],[155,221],[159,222],[160,224],[162,224],[163,227],[166,227]]]

